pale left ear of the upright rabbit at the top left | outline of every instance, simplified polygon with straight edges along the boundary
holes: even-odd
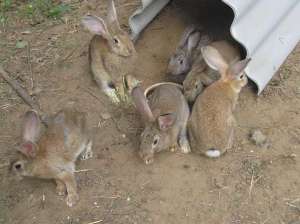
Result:
[[[108,38],[109,32],[103,19],[96,16],[87,15],[82,18],[81,23],[91,33],[101,35],[106,39]]]

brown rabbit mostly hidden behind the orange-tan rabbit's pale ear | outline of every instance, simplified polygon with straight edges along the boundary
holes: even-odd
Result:
[[[238,46],[232,42],[222,40],[212,42],[210,45],[219,51],[228,64],[241,58]],[[199,55],[183,81],[183,90],[187,101],[193,103],[204,87],[211,85],[219,78],[220,74],[207,66],[202,55]]]

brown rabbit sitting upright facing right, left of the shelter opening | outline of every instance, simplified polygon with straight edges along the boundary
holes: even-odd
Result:
[[[134,69],[137,53],[129,34],[120,27],[114,1],[109,0],[106,20],[87,15],[82,24],[94,34],[89,45],[93,78],[113,103],[126,101],[122,76]]]

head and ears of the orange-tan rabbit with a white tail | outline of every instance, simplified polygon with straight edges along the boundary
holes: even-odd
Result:
[[[228,64],[219,51],[212,46],[202,47],[201,52],[207,65],[220,73],[220,81],[230,84],[235,92],[239,93],[247,84],[248,79],[244,70],[250,58],[235,60]]]

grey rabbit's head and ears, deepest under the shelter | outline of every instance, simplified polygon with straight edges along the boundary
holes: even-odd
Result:
[[[189,72],[192,66],[192,52],[200,40],[200,32],[195,27],[188,27],[182,35],[175,53],[171,56],[167,73],[173,76]]]

